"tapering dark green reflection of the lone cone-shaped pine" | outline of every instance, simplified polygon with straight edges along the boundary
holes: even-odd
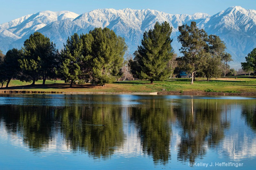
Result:
[[[133,107],[131,120],[139,129],[143,152],[151,155],[155,163],[167,163],[171,158],[172,107],[164,100],[147,100],[147,105]]]

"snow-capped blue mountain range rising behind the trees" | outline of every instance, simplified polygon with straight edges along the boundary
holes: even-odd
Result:
[[[238,68],[244,57],[256,47],[256,11],[240,6],[229,7],[215,15],[206,13],[168,14],[156,10],[97,9],[84,14],[69,11],[43,11],[29,14],[0,25],[0,50],[20,49],[29,35],[38,31],[49,37],[58,49],[63,48],[68,36],[88,33],[95,27],[108,27],[125,38],[128,52],[133,53],[140,45],[143,33],[154,27],[156,21],[170,23],[172,47],[179,56],[181,44],[177,41],[178,27],[196,21],[208,35],[220,36],[232,55],[231,66]]]

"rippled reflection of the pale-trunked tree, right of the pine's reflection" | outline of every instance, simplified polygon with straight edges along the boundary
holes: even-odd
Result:
[[[180,107],[182,105],[182,107]],[[174,109],[181,126],[178,160],[195,162],[224,137],[229,123],[221,119],[221,104],[215,100],[182,100]]]

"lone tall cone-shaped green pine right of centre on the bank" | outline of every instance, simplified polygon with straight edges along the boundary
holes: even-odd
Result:
[[[131,68],[135,68],[138,76],[150,80],[150,83],[156,80],[165,80],[170,76],[171,69],[168,62],[172,59],[172,39],[170,38],[172,27],[168,22],[160,24],[156,22],[154,29],[145,31],[141,45],[138,46]],[[138,70],[137,70],[138,69]],[[136,77],[136,75],[134,75]]]

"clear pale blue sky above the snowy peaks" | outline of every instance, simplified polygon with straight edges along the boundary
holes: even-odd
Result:
[[[204,12],[216,14],[230,6],[255,9],[255,0],[0,0],[0,24],[40,11],[71,11],[77,14],[94,9],[152,9],[171,14]]]

